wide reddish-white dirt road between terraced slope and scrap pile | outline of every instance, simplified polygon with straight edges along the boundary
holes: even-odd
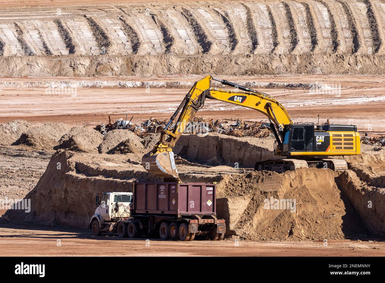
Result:
[[[135,79],[135,78],[134,78]],[[169,78],[168,78],[169,79]],[[176,78],[173,78],[177,80]],[[187,78],[193,82],[198,77]],[[236,79],[236,78],[233,78]],[[7,79],[18,81],[15,79]],[[167,78],[155,78],[164,81]],[[231,80],[231,79],[229,79]],[[336,85],[340,93],[330,94],[309,89],[259,89],[281,102],[295,122],[326,122],[356,124],[361,131],[384,131],[385,110],[383,77],[250,77],[249,81],[305,82]],[[23,81],[23,79],[21,79]],[[30,122],[64,122],[71,125],[100,124],[133,115],[133,122],[150,117],[169,118],[189,89],[165,88],[77,88],[75,95],[47,94],[44,88],[2,89],[0,122],[25,119]],[[210,118],[241,118],[254,121],[265,116],[237,105],[206,100],[199,116]]]

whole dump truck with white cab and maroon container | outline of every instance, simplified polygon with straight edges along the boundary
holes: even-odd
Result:
[[[90,229],[96,236],[154,235],[162,240],[222,240],[226,223],[216,216],[216,183],[134,182],[134,192],[96,195]]]

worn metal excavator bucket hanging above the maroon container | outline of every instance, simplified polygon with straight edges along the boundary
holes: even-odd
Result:
[[[163,178],[164,181],[180,181],[172,151],[146,154],[142,158],[142,166],[147,172]]]

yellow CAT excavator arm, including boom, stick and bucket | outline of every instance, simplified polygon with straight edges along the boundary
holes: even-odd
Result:
[[[234,89],[223,90],[210,87],[211,80],[234,87]],[[194,83],[175,113],[171,116],[165,129],[161,132],[159,142],[151,152],[143,156],[142,166],[148,172],[164,178],[165,181],[179,180],[172,147],[175,146],[177,140],[184,132],[187,123],[191,122],[196,112],[203,107],[206,99],[229,102],[254,109],[266,115],[270,121],[270,129],[273,131],[280,146],[282,144],[284,126],[286,124],[293,124],[285,107],[269,95],[226,80],[207,76]],[[177,121],[174,123],[178,114]]]

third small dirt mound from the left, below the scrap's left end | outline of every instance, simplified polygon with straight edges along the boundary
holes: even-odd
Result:
[[[55,146],[54,149],[70,149],[84,152],[96,151],[102,140],[103,135],[91,127],[73,127],[67,134],[62,136],[59,140],[59,145]]]

